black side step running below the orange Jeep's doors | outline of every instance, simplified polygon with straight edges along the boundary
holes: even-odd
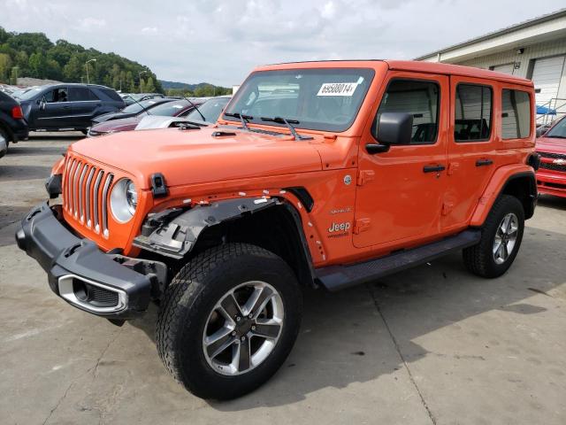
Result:
[[[464,230],[455,236],[428,243],[407,251],[372,259],[351,266],[329,266],[316,269],[317,279],[327,290],[343,290],[359,283],[373,281],[409,267],[443,257],[450,251],[462,250],[479,242],[481,230]]]

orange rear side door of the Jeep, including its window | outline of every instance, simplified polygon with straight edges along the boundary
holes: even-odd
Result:
[[[450,124],[447,191],[442,202],[442,228],[467,225],[486,189],[496,160],[493,131],[494,83],[450,77]]]

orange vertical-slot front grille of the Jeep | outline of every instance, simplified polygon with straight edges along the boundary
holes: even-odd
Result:
[[[63,207],[75,220],[108,237],[108,196],[114,174],[67,157],[63,177]]]

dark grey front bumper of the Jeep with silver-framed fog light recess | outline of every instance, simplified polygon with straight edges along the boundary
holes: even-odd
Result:
[[[47,272],[50,289],[80,310],[107,319],[132,319],[147,310],[157,275],[120,264],[96,243],[74,236],[57,216],[59,208],[43,203],[16,231],[19,248]]]

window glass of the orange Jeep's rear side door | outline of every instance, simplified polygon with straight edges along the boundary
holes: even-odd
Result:
[[[492,127],[490,87],[458,84],[455,97],[454,140],[480,142],[489,140]]]

